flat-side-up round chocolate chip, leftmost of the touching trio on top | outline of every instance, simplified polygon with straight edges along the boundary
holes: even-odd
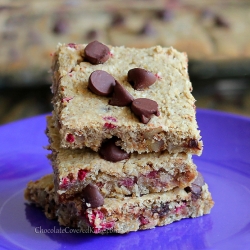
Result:
[[[113,92],[115,79],[103,70],[96,70],[89,76],[88,88],[96,95],[109,96]]]

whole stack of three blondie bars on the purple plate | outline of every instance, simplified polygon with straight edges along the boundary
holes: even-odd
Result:
[[[187,57],[160,46],[59,44],[46,134],[53,175],[27,200],[64,226],[127,233],[210,212]]]

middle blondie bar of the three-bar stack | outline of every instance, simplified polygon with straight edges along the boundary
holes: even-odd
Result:
[[[47,117],[49,155],[55,190],[61,201],[81,193],[88,184],[98,187],[103,197],[122,198],[184,188],[197,176],[190,154],[168,152],[138,154],[110,162],[88,149],[60,148],[58,129]]]

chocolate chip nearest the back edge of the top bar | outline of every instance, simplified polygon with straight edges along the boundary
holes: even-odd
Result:
[[[105,63],[109,59],[109,55],[109,48],[98,41],[89,43],[84,50],[85,61],[94,65]]]

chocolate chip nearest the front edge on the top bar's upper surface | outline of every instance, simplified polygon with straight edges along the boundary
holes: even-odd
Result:
[[[135,99],[132,102],[131,110],[144,124],[148,123],[153,115],[160,115],[157,102],[147,98]]]

